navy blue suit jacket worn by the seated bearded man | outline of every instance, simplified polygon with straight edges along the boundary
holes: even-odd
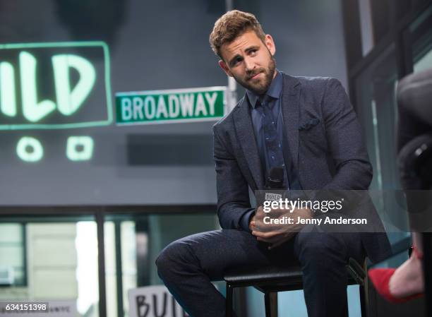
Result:
[[[372,167],[361,126],[340,82],[282,77],[284,128],[301,188],[368,189]],[[251,210],[248,187],[256,191],[265,186],[247,98],[213,126],[213,136],[220,225],[241,229],[242,215]],[[371,261],[390,255],[383,228],[378,231],[361,234]]]

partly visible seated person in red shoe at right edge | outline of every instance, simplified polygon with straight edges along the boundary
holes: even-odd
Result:
[[[407,190],[409,225],[413,231],[412,256],[399,268],[376,268],[368,272],[373,285],[388,301],[400,303],[424,292],[422,227],[429,227],[431,210],[430,148],[432,133],[432,68],[412,73],[397,85],[397,161],[402,188]],[[429,167],[428,167],[429,164]],[[423,193],[422,193],[423,191]],[[426,193],[426,196],[425,196]],[[430,192],[429,192],[430,193]],[[422,211],[423,217],[416,214]],[[416,220],[416,221],[414,221]],[[420,220],[420,223],[419,223]]]

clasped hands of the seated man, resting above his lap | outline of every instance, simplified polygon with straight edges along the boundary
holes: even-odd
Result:
[[[273,249],[276,246],[280,246],[285,241],[291,239],[296,232],[299,232],[304,225],[298,224],[297,220],[309,219],[313,215],[312,211],[309,209],[299,209],[294,210],[289,209],[272,209],[270,213],[264,213],[263,207],[260,206],[256,210],[255,215],[251,218],[249,223],[249,229],[251,229],[252,234],[256,237],[258,241],[267,242],[271,244],[269,249]],[[270,217],[272,219],[284,219],[284,217],[289,217],[292,219],[292,224],[269,224],[264,223],[264,217]]]

